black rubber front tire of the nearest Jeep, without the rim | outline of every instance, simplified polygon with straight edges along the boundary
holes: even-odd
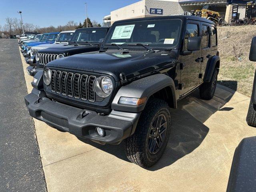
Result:
[[[150,134],[154,119],[162,114],[164,114],[166,117],[166,133],[159,151],[152,155],[148,149],[148,136]],[[134,134],[125,140],[125,152],[127,158],[131,162],[143,168],[152,166],[158,162],[164,153],[169,140],[170,130],[171,116],[168,104],[160,99],[150,99],[140,115]]]

